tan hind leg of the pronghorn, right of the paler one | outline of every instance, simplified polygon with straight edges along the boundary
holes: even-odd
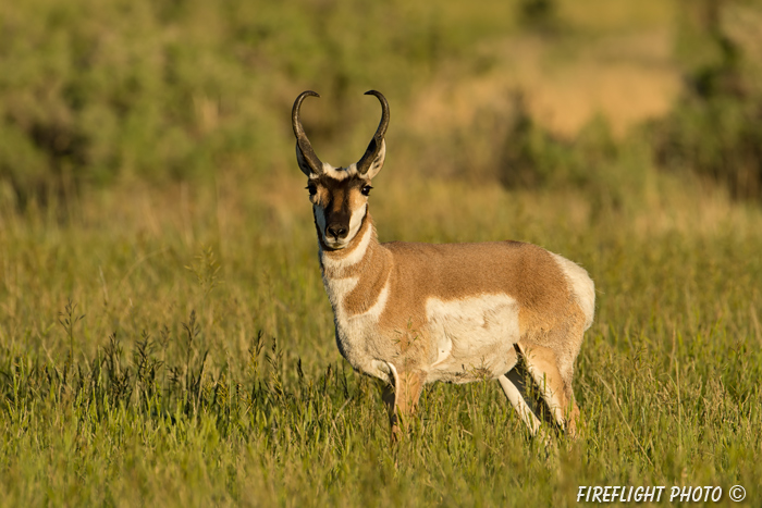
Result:
[[[517,346],[553,419],[570,437],[576,437],[579,408],[566,395],[566,386],[558,371],[555,354],[552,349],[543,346],[527,346],[521,342],[518,342]]]

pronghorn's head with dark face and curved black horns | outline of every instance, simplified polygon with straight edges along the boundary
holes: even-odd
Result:
[[[309,200],[312,202],[315,224],[322,246],[329,250],[345,248],[357,235],[368,212],[370,181],[381,171],[386,145],[383,139],[389,126],[389,102],[376,90],[366,91],[381,101],[381,123],[359,161],[346,168],[334,168],[321,162],[307,139],[299,108],[307,96],[320,97],[315,91],[303,91],[294,102],[291,113],[296,136],[296,161],[307,175]]]

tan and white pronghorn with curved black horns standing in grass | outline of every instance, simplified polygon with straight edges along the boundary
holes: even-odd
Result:
[[[381,244],[368,211],[383,166],[389,102],[360,160],[334,168],[318,159],[292,110],[296,160],[307,175],[323,285],[336,345],[352,367],[386,383],[392,437],[415,410],[423,384],[497,379],[534,434],[533,413],[514,367],[521,355],[552,418],[576,434],[574,362],[592,324],[595,293],[576,263],[531,244]]]

